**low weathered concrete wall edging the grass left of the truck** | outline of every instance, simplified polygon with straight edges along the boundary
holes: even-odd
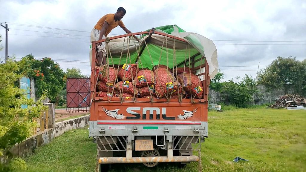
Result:
[[[45,144],[48,144],[55,137],[62,135],[64,132],[71,129],[78,129],[89,125],[89,115],[85,115],[79,118],[69,119],[63,122],[58,122],[52,129],[45,129],[42,132],[37,132],[35,135],[29,137],[24,142],[14,146],[10,149],[10,152],[14,156],[26,157],[32,154],[32,152]]]

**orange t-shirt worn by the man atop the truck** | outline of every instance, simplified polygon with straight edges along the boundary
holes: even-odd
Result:
[[[95,29],[101,30],[104,24],[104,21],[108,23],[107,28],[105,29],[105,35],[107,36],[113,28],[120,26],[121,28],[125,28],[125,25],[121,20],[115,21],[115,14],[106,14],[105,16],[101,17],[100,20],[95,25]]]

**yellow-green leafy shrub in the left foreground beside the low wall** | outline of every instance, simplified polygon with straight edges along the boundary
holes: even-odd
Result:
[[[13,158],[8,150],[32,134],[37,125],[32,119],[47,109],[41,102],[46,92],[34,102],[25,97],[24,90],[14,85],[22,77],[18,74],[19,69],[20,66],[10,59],[0,65],[0,157],[4,158],[0,161],[0,171],[25,170],[24,160]],[[22,109],[21,105],[28,105],[28,108]]]

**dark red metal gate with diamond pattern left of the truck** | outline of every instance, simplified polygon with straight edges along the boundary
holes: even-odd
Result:
[[[67,78],[67,112],[90,110],[90,78]]]

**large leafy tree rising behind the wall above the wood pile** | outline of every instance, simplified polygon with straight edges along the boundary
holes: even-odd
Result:
[[[306,91],[306,60],[300,62],[296,57],[278,57],[258,75],[258,83],[269,89],[280,88],[288,92],[292,86],[297,93]]]

